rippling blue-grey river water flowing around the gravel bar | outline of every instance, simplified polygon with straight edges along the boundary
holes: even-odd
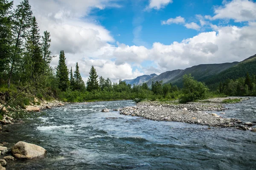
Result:
[[[100,112],[135,105],[132,101],[70,104],[46,110],[39,119],[8,127],[0,141],[38,144],[47,158],[17,160],[7,170],[255,170],[256,133],[156,122]],[[224,116],[256,121],[256,98]]]

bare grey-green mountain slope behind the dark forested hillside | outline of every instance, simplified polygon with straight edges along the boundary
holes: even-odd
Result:
[[[191,74],[198,81],[204,81],[209,77],[212,77],[215,74],[220,73],[221,71],[227,70],[234,65],[237,65],[239,62],[232,63],[222,63],[222,64],[201,64],[195,65],[185,70],[174,70],[166,71],[165,73],[160,74],[157,77],[149,79],[147,81],[148,86],[151,86],[152,81],[160,82],[163,81],[163,84],[171,82],[173,85],[182,87],[182,79],[184,74]]]

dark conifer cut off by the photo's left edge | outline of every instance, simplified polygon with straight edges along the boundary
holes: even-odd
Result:
[[[12,49],[12,2],[0,0],[0,73],[8,67]]]

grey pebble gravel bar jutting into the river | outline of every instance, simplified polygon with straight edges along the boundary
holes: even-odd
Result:
[[[215,98],[210,103],[166,104],[161,102],[139,102],[136,106],[120,109],[120,114],[140,116],[154,121],[183,122],[208,125],[210,127],[233,127],[255,131],[252,127],[256,125],[256,122],[241,122],[235,118],[222,117],[226,110],[224,105],[221,104],[224,99],[230,98]],[[241,100],[248,99],[247,97],[241,98]],[[209,111],[223,112],[217,115],[216,113],[209,113]]]

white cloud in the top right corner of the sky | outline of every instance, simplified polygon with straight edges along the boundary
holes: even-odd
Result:
[[[251,0],[232,0],[224,1],[224,6],[215,8],[216,19],[233,19],[235,22],[255,21],[256,20],[256,2]]]

